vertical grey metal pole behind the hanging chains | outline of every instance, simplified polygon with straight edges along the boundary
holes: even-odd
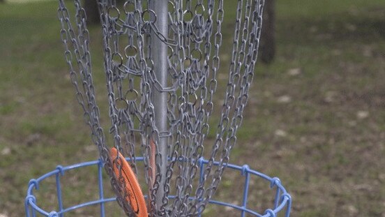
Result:
[[[156,15],[155,25],[159,33],[163,36],[168,36],[168,0],[151,0],[149,3],[150,9]],[[151,17],[153,20],[153,17]],[[162,87],[167,87],[167,45],[156,36],[156,32],[151,32],[151,58],[153,59],[153,70],[156,74],[156,79]],[[160,135],[167,131],[167,93],[153,89],[153,103],[155,107],[155,122],[156,128]],[[163,204],[163,197],[165,195],[165,175],[167,169],[167,138],[160,137],[158,141],[158,156],[156,157],[156,164],[160,165],[161,178],[159,181],[159,189],[156,193],[156,207],[157,209]],[[161,162],[160,162],[161,161]]]

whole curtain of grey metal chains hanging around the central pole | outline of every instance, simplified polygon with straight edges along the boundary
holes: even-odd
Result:
[[[243,119],[257,59],[264,0],[237,1],[225,100],[216,140],[207,156],[209,163],[199,181],[199,159],[205,156],[204,147],[209,147],[204,141],[218,89],[224,2],[165,0],[165,35],[158,26],[159,15],[151,8],[153,1],[156,0],[126,0],[119,4],[115,0],[98,0],[112,144],[129,157],[137,177],[145,178],[149,216],[197,216],[215,193],[236,143],[236,130]],[[86,15],[80,0],[74,3],[76,29],[64,0],[59,0],[58,10],[70,79],[91,128],[92,140],[112,177],[117,200],[128,216],[135,216],[126,202],[130,195],[119,181],[121,174],[116,177],[112,169],[112,161],[119,159],[110,159],[108,154],[93,88]],[[153,45],[158,42],[168,47],[167,85],[158,79],[153,61]],[[156,117],[157,93],[168,96],[164,102],[167,114],[162,117],[167,122],[166,130],[160,130],[160,117]],[[167,156],[160,151],[161,140],[167,141]],[[144,157],[144,165],[137,164],[137,154]],[[213,165],[214,161],[219,165]],[[163,167],[165,174],[160,172]],[[157,200],[159,193],[163,195]],[[169,199],[169,195],[175,197]]]

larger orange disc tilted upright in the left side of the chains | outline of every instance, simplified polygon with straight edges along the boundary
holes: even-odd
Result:
[[[118,158],[118,151],[116,148],[111,149],[110,156],[115,176],[119,179],[121,174],[123,179],[120,179],[119,181],[124,181],[124,185],[122,184],[121,186],[126,186],[126,192],[129,194],[129,196],[126,197],[126,201],[131,205],[131,208],[137,217],[148,217],[142,189],[140,188],[130,165],[128,165],[126,159],[120,153]],[[119,171],[119,167],[121,168],[121,172]]]

